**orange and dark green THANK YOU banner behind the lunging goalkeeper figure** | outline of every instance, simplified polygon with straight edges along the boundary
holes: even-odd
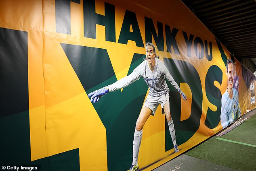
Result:
[[[152,42],[166,79],[179,152],[159,105],[147,119],[141,170],[173,159],[255,108],[255,76],[179,0],[2,0],[0,164],[42,171],[126,171],[143,78],[88,94],[131,74]],[[35,169],[37,168],[37,169]]]

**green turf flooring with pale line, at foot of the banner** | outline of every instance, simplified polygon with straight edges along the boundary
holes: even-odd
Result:
[[[216,139],[214,136],[186,155],[240,171],[256,171],[256,148]],[[256,145],[256,115],[221,138]]]

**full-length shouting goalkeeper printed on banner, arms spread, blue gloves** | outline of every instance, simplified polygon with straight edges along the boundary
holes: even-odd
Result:
[[[92,103],[97,103],[104,95],[109,92],[113,92],[124,87],[127,87],[129,84],[132,84],[139,78],[143,77],[146,84],[149,87],[149,94],[145,100],[141,113],[137,119],[136,127],[134,131],[134,140],[133,140],[133,150],[132,150],[132,166],[130,171],[138,170],[138,151],[142,139],[142,130],[145,122],[150,115],[155,115],[155,111],[158,105],[162,107],[162,114],[165,113],[166,119],[169,126],[170,135],[172,137],[172,142],[174,145],[174,152],[178,152],[178,146],[176,144],[176,136],[174,130],[174,123],[170,115],[170,101],[169,101],[169,88],[166,84],[165,78],[174,86],[174,88],[180,93],[185,101],[187,101],[186,95],[180,90],[180,87],[173,79],[170,72],[167,70],[164,63],[158,59],[155,53],[155,46],[152,43],[146,43],[146,58],[139,64],[133,72],[121,78],[120,80],[110,84],[104,88],[93,91],[88,94],[88,97],[91,97]]]

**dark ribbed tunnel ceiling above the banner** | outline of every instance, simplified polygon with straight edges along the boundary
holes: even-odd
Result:
[[[238,60],[256,65],[256,0],[181,0]]]

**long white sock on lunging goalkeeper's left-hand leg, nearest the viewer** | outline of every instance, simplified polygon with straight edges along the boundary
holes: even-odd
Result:
[[[133,146],[132,146],[132,165],[138,165],[138,150],[140,149],[142,138],[142,130],[134,131]]]

